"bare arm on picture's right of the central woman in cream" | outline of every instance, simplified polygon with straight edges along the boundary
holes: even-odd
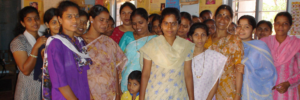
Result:
[[[192,72],[192,60],[184,62],[184,78],[186,81],[186,89],[189,95],[189,100],[194,100],[194,81]]]

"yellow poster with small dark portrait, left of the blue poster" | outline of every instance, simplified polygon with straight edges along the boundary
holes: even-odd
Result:
[[[166,0],[150,0],[149,14],[160,14],[166,8]]]

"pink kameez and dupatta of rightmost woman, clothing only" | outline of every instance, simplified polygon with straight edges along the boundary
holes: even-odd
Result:
[[[279,44],[276,36],[269,36],[260,39],[264,41],[271,50],[274,65],[277,70],[278,78],[276,86],[288,81],[291,86],[287,92],[281,94],[276,89],[273,90],[274,100],[299,100],[298,88],[300,84],[300,39],[296,36],[287,36]]]

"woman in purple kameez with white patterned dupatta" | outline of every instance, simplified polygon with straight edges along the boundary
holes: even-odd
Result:
[[[43,99],[90,100],[87,70],[92,64],[81,37],[75,37],[79,6],[63,1],[58,6],[62,31],[49,37],[43,65]]]

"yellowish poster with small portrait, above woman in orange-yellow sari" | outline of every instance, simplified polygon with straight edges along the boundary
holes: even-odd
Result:
[[[222,5],[222,0],[200,0],[199,13],[203,10],[210,10],[212,13],[216,12],[216,9]],[[198,14],[199,16],[199,14]]]

